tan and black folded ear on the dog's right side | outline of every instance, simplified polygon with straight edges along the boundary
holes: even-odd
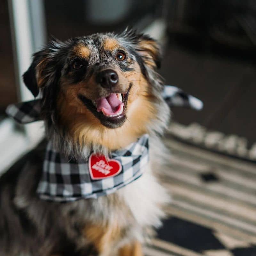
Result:
[[[161,67],[161,50],[156,40],[148,35],[139,34],[136,50],[151,68]]]

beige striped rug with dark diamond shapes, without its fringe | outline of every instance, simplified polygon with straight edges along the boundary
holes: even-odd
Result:
[[[169,218],[147,256],[256,256],[256,164],[166,140]]]

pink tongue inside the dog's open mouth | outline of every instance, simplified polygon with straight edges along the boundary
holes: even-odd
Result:
[[[106,98],[101,98],[96,100],[97,105],[97,111],[102,111],[102,108],[104,108],[104,112],[108,115],[114,115],[116,112],[119,111],[119,106],[123,105],[124,103],[120,100],[118,100],[116,93],[111,93]]]

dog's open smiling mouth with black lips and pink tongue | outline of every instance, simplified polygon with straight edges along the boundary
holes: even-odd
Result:
[[[101,124],[108,128],[117,128],[124,124],[126,120],[125,110],[129,91],[125,93],[110,93],[107,97],[97,100],[89,100],[84,95],[79,95],[79,99],[96,116]]]

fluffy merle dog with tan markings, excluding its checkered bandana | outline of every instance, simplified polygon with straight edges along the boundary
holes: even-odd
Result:
[[[57,151],[77,159],[109,156],[148,134],[149,161],[143,175],[113,193],[43,200],[36,192],[41,144],[1,177],[0,255],[143,255],[170,200],[157,178],[168,157],[160,137],[170,117],[160,62],[157,42],[130,29],[53,39],[34,54],[23,79],[41,95],[46,137]]]

